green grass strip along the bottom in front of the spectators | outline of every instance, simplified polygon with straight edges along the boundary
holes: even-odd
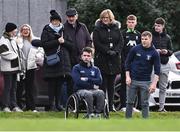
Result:
[[[64,119],[64,113],[0,112],[0,131],[180,131],[180,112],[152,112],[149,119],[135,113],[110,113],[110,119]]]

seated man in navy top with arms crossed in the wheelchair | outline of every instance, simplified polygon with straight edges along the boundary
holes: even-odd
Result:
[[[86,100],[88,105],[87,118],[99,117],[105,104],[105,94],[99,89],[102,83],[101,73],[98,67],[92,65],[92,56],[92,49],[85,47],[79,64],[72,70],[74,90],[80,98]],[[95,107],[94,101],[96,101]]]

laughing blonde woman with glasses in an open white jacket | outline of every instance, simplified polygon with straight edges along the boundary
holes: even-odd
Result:
[[[37,112],[35,109],[35,100],[34,100],[34,75],[35,69],[37,68],[37,53],[42,52],[42,48],[37,48],[32,46],[31,42],[33,39],[38,39],[34,36],[32,28],[28,24],[23,24],[20,27],[19,36],[17,38],[18,46],[20,47],[21,53],[21,65],[22,72],[20,74],[20,79],[18,80],[17,87],[17,102],[20,107],[22,107],[22,93],[25,90],[25,102],[26,109],[33,112]],[[42,56],[42,59],[44,56]]]

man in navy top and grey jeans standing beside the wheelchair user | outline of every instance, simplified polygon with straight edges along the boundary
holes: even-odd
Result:
[[[149,116],[149,95],[156,89],[160,73],[160,57],[152,45],[152,34],[144,31],[141,34],[141,45],[133,47],[126,59],[127,105],[126,118],[132,117],[133,105],[137,90],[141,94],[142,117]],[[154,78],[151,82],[152,69]]]

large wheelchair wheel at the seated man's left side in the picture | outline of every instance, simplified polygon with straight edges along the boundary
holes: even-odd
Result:
[[[79,116],[79,102],[76,95],[71,95],[66,103],[65,119],[78,118]]]

